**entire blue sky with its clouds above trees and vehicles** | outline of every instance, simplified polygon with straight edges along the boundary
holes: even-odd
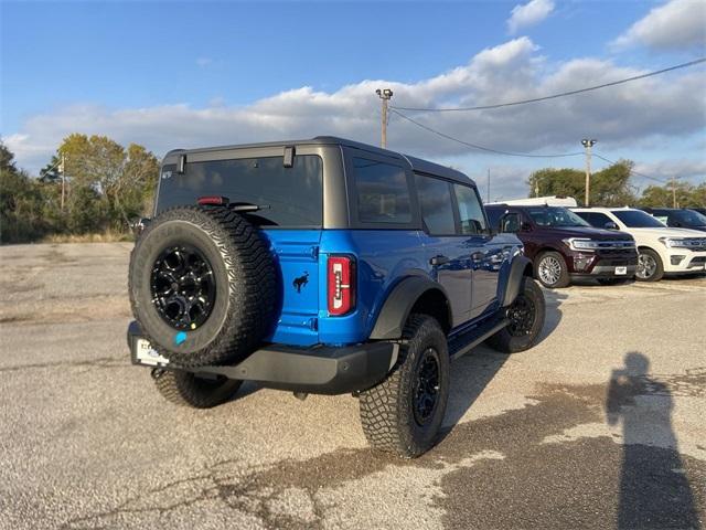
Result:
[[[320,134],[375,142],[377,85],[397,88],[393,104],[400,106],[498,103],[706,55],[703,31],[694,30],[694,19],[706,22],[703,0],[2,1],[1,9],[0,132],[30,171],[72,131],[141,142],[158,156],[172,147]],[[662,36],[652,31],[665,22],[672,28]],[[606,157],[698,182],[706,178],[705,108],[677,88],[706,93],[705,72],[700,65],[526,112],[414,117],[523,152],[575,151],[581,136],[600,136]],[[526,193],[524,179],[537,167],[582,163],[485,156],[400,118],[389,126],[391,148],[473,176],[491,168],[502,194]]]

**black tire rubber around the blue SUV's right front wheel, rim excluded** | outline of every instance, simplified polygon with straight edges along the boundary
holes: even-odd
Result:
[[[522,297],[524,297],[524,300]],[[507,308],[509,318],[512,318],[512,311],[518,307],[518,304],[526,303],[527,300],[532,304],[534,311],[534,320],[528,327],[528,332],[526,332],[526,335],[516,335],[513,333],[513,327],[507,326],[485,341],[493,350],[502,353],[517,353],[536,344],[544,328],[546,304],[544,301],[544,294],[536,282],[524,276],[520,294]]]

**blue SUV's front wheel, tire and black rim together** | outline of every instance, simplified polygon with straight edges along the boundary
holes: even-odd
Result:
[[[528,350],[542,333],[545,310],[542,289],[536,282],[525,276],[522,290],[507,307],[511,324],[489,338],[488,346],[503,353]]]

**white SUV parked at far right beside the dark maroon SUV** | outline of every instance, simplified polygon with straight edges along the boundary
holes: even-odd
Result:
[[[704,232],[670,229],[652,215],[632,208],[571,209],[591,226],[628,232],[638,244],[638,271],[642,282],[656,282],[664,274],[706,271]]]

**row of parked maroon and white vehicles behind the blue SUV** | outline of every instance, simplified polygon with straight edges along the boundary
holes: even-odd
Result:
[[[706,271],[706,234],[700,231],[706,224],[699,224],[706,216],[695,211],[653,209],[650,214],[536,201],[489,204],[486,211],[495,230],[517,234],[545,287],[566,287],[580,277],[614,284]]]

